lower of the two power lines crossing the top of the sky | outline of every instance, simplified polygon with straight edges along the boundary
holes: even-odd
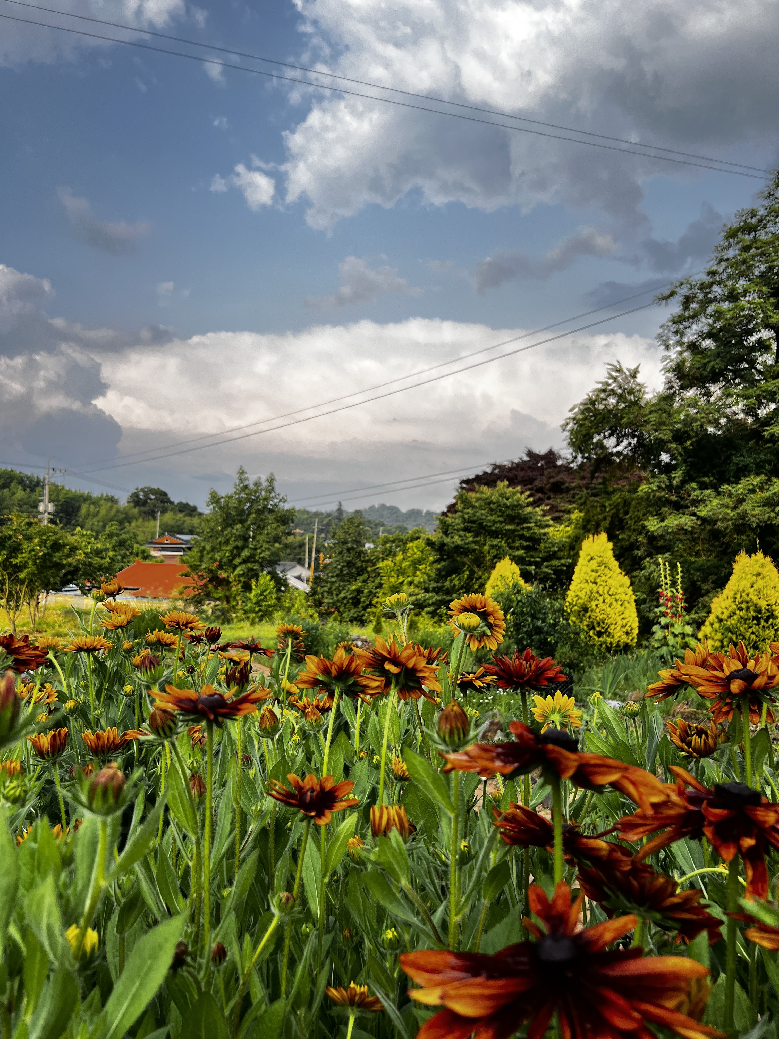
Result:
[[[343,86],[322,85],[321,83],[313,83],[311,80],[300,79],[295,76],[281,76],[279,73],[265,72],[263,69],[249,69],[246,68],[245,65],[231,64],[229,61],[218,61],[216,58],[205,58],[197,54],[185,54],[183,51],[173,51],[170,50],[169,48],[164,48],[164,47],[152,47],[151,44],[141,44],[135,39],[116,39],[115,36],[104,36],[101,33],[97,32],[86,32],[84,29],[70,29],[64,25],[52,25],[49,22],[36,22],[28,18],[18,18],[15,15],[0,14],[0,18],[5,18],[11,22],[22,22],[25,25],[37,25],[44,29],[55,29],[58,32],[69,32],[72,35],[76,36],[87,36],[91,39],[104,39],[109,44],[122,44],[125,47],[135,47],[142,51],[153,51],[157,54],[168,54],[173,57],[187,58],[190,61],[199,61],[204,64],[213,64],[217,65],[220,69],[230,69],[234,72],[248,72],[252,73],[256,76],[265,76],[269,79],[278,79],[288,83],[300,83],[303,86],[313,86],[318,90],[332,90],[335,94],[344,94],[355,98],[365,98],[368,101],[378,101],[385,105],[395,105],[398,108],[408,108],[420,112],[432,112],[434,115],[447,115],[453,119],[464,119],[466,123],[480,123],[484,126],[496,127],[500,130],[513,130],[517,133],[528,133],[532,134],[535,137],[549,137],[554,140],[568,141],[568,143],[571,144],[587,144],[589,148],[599,148],[607,152],[618,152],[622,155],[640,155],[644,159],[654,159],[659,162],[672,162],[675,165],[681,165],[681,166],[694,166],[697,169],[708,169],[711,172],[718,172],[718,174],[730,174],[733,177],[748,177],[751,180],[756,180],[756,181],[764,181],[767,180],[768,176],[772,176],[770,174],[767,174],[767,176],[761,177],[759,174],[749,174],[746,172],[746,170],[741,170],[741,169],[724,169],[721,166],[703,165],[700,162],[693,162],[690,159],[675,159],[672,158],[670,155],[650,155],[648,152],[637,152],[635,149],[632,148],[617,148],[615,144],[601,144],[595,140],[580,140],[574,137],[564,137],[561,134],[547,133],[546,131],[543,130],[531,130],[528,127],[512,126],[508,123],[494,123],[492,119],[483,119],[475,115],[463,115],[460,112],[448,112],[439,108],[428,108],[426,105],[414,105],[407,101],[396,101],[392,98],[377,98],[375,95],[364,94],[360,90],[349,90]],[[573,131],[573,132],[577,133],[579,131]],[[651,145],[643,145],[643,146],[648,148]],[[713,161],[719,162],[720,160],[715,159]]]

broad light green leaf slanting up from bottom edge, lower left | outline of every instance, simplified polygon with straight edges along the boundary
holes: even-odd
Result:
[[[165,980],[183,927],[184,916],[173,916],[139,939],[108,996],[98,1039],[120,1039],[140,1017]]]

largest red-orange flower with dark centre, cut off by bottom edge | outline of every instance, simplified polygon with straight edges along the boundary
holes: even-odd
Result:
[[[528,891],[539,918],[525,927],[536,941],[509,945],[494,956],[424,951],[403,953],[403,970],[422,988],[408,994],[442,1007],[423,1024],[418,1039],[508,1039],[529,1023],[529,1039],[540,1039],[557,1013],[560,1034],[591,1039],[650,1039],[648,1024],[670,1029],[683,1039],[721,1033],[681,1013],[692,983],[708,975],[681,956],[644,957],[641,949],[607,947],[636,927],[622,916],[576,930],[583,896],[571,904],[570,889],[558,884],[552,902],[541,887]]]

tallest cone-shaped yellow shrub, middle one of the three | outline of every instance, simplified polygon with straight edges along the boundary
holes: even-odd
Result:
[[[630,580],[620,570],[606,534],[585,538],[565,610],[598,652],[636,645],[639,618]]]

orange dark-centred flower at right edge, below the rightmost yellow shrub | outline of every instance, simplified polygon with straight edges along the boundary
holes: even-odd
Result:
[[[773,700],[771,690],[779,685],[779,666],[768,652],[751,658],[744,643],[738,648],[730,646],[729,656],[713,654],[705,667],[684,664],[680,670],[698,695],[711,700],[709,711],[717,722],[729,722],[733,709],[741,711],[744,697],[749,701],[749,720],[753,725],[760,721],[762,705]],[[771,708],[765,715],[774,721]]]

